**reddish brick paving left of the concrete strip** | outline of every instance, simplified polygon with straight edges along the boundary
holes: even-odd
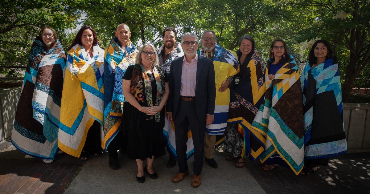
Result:
[[[10,141],[0,144],[0,194],[61,194],[84,164],[66,153],[53,163],[24,156]]]

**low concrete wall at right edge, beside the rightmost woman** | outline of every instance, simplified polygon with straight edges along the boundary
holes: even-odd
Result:
[[[370,104],[343,103],[348,152],[370,151]]]

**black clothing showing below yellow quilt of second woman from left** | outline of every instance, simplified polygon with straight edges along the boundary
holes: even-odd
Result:
[[[85,152],[91,149],[94,154],[101,154],[101,143],[100,143],[100,123],[94,120],[89,131],[87,132],[86,142],[84,148]]]

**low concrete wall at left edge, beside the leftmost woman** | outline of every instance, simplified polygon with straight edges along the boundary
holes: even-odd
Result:
[[[11,136],[22,86],[0,91],[0,142]]]

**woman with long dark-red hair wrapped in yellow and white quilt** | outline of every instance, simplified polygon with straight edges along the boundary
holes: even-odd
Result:
[[[88,159],[88,152],[94,157],[101,154],[104,51],[98,43],[94,30],[84,25],[68,47],[64,76],[59,144],[82,161]]]

